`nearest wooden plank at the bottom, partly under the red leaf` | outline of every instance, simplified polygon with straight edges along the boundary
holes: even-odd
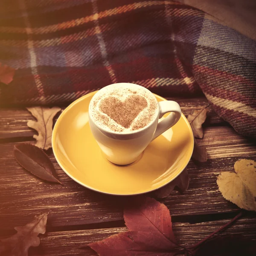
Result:
[[[229,220],[209,221],[196,224],[173,223],[173,232],[178,243],[185,247],[192,246],[201,241],[210,233],[218,230]],[[70,256],[97,255],[87,244],[100,241],[109,236],[127,231],[126,227],[116,227],[97,230],[75,230],[63,232],[49,232],[41,236],[39,247],[30,249],[30,256]],[[226,234],[242,234],[249,239],[256,239],[256,218],[241,218],[233,226],[221,232]]]

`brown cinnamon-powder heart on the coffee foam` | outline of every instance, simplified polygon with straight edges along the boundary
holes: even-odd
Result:
[[[99,109],[124,128],[129,128],[134,119],[148,106],[145,98],[130,95],[124,101],[109,96],[99,103]]]

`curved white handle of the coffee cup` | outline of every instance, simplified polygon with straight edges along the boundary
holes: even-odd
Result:
[[[167,131],[169,128],[175,125],[179,121],[181,116],[180,105],[177,102],[168,100],[168,101],[158,102],[158,104],[160,108],[159,119],[168,112],[172,112],[172,113],[170,113],[166,118],[164,118],[158,123],[157,129],[154,133],[152,140],[154,140],[163,132]]]

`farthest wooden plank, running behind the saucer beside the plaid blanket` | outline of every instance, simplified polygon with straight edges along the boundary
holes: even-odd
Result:
[[[180,104],[181,110],[185,116],[208,105],[208,101],[204,97],[195,99],[168,99],[176,100]],[[64,108],[65,107],[62,107],[62,109]],[[211,106],[209,106],[208,109],[209,113],[206,125],[224,123],[223,119],[218,117]],[[34,120],[34,117],[29,113],[29,111],[26,110],[26,108],[1,108],[0,117],[0,139],[13,137],[32,137],[34,134],[36,134],[36,131],[27,127],[26,125],[29,120]]]

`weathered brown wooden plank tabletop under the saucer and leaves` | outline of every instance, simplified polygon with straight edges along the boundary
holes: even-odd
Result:
[[[175,100],[186,116],[208,104],[204,97]],[[30,248],[30,256],[96,255],[88,243],[126,230],[122,203],[128,199],[80,186],[61,170],[51,149],[47,154],[64,186],[44,182],[23,169],[14,158],[13,146],[34,143],[32,136],[36,132],[26,125],[31,119],[33,116],[25,108],[0,109],[0,236],[14,234],[14,227],[32,221],[40,212],[50,212],[47,232],[40,235],[39,247]],[[241,158],[256,160],[255,141],[237,134],[211,107],[199,145],[207,147],[208,160],[201,164],[189,162],[189,189],[183,195],[174,191],[160,200],[169,208],[174,233],[183,245],[203,239],[238,214],[240,209],[221,196],[217,175],[232,171]],[[245,212],[223,233],[255,238],[255,217],[255,213]]]

